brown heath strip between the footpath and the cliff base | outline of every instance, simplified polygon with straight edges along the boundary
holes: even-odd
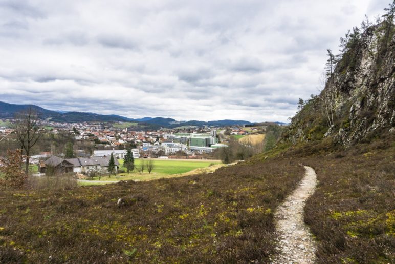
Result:
[[[315,169],[318,186],[304,220],[317,238],[319,263],[395,262],[395,135],[365,141],[348,150],[330,139],[283,144],[253,158],[281,157]]]

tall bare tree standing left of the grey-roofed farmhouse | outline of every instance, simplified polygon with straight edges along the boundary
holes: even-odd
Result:
[[[17,114],[15,119],[13,128],[15,129],[21,155],[23,155],[23,152],[26,155],[25,174],[28,175],[31,149],[41,136],[37,126],[38,115],[34,109],[29,108],[27,111]]]

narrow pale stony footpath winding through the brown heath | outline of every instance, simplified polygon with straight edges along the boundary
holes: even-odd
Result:
[[[314,263],[315,241],[303,221],[306,199],[314,193],[317,176],[313,168],[304,166],[306,173],[299,187],[278,208],[276,233],[280,237],[278,255],[273,263]]]

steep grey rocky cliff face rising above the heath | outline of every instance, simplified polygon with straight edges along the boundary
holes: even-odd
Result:
[[[349,40],[324,89],[292,118],[282,141],[328,137],[349,147],[366,137],[395,133],[395,26],[388,26],[368,27]]]

